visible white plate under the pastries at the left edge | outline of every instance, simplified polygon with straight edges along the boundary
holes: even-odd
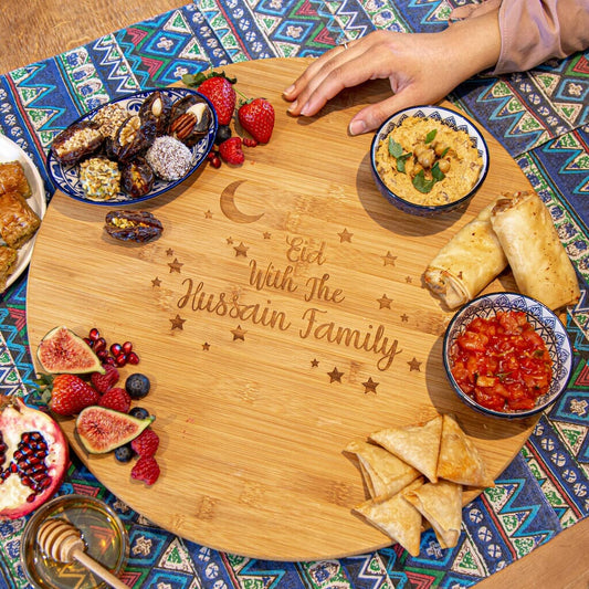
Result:
[[[46,197],[45,197],[45,186],[43,185],[43,179],[36,169],[36,166],[33,164],[31,158],[11,139],[0,135],[0,162],[4,164],[7,161],[20,161],[29,185],[31,185],[32,194],[27,199],[29,207],[39,215],[40,219],[43,219],[46,210]],[[31,255],[33,254],[34,239],[30,239],[22,248],[19,249],[19,257],[17,259],[17,267],[14,272],[7,280],[7,288],[14,283],[14,281],[23,273],[24,269],[29,265],[31,261]]]

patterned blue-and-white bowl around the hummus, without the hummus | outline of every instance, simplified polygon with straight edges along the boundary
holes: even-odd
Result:
[[[396,127],[400,126],[408,117],[432,118],[450,127],[453,130],[463,130],[469,135],[473,147],[478,151],[478,155],[483,160],[483,166],[481,168],[476,182],[466,194],[459,198],[457,200],[446,202],[444,204],[417,204],[407,200],[400,194],[395,193],[385,183],[380,176],[376,161],[378,146],[383,139],[388,137],[388,135]],[[474,197],[475,192],[483,183],[488,171],[488,148],[486,146],[485,139],[483,138],[478,129],[469,119],[466,119],[459,113],[450,111],[449,108],[443,108],[441,106],[414,106],[411,108],[406,108],[404,111],[399,111],[390,118],[388,118],[377,130],[372,138],[372,144],[370,147],[370,167],[372,170],[372,177],[378,189],[391,204],[395,204],[395,207],[397,207],[401,211],[410,214],[417,214],[419,217],[435,217],[438,214],[448,213],[450,211],[460,210],[466,207],[469,201]]]

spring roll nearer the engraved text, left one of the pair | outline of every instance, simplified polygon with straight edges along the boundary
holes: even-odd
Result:
[[[425,285],[449,308],[472,301],[507,266],[507,257],[491,227],[491,211],[495,203],[466,223],[425,269]]]

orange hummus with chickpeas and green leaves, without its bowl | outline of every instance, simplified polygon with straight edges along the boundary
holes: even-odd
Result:
[[[478,179],[483,159],[465,132],[410,116],[380,141],[376,167],[399,197],[435,206],[466,196]]]

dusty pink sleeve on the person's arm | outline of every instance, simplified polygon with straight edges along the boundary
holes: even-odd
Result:
[[[589,48],[589,0],[486,0],[455,9],[452,19],[499,10],[501,54],[493,74],[524,72]]]

